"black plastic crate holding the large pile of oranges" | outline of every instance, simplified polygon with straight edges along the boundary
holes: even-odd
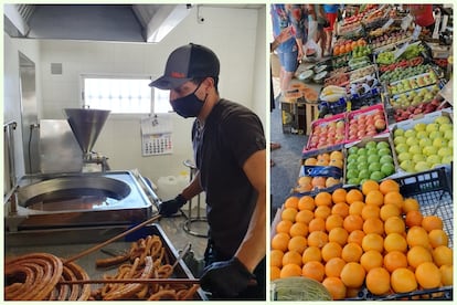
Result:
[[[451,175],[451,173],[450,173]],[[454,209],[453,192],[450,189],[450,175],[446,168],[436,168],[411,176],[395,178],[400,183],[400,192],[403,197],[415,198],[421,204],[424,215],[436,214],[443,220],[443,230],[449,236],[449,248],[454,241]],[[402,299],[453,299],[454,287],[445,286],[433,290],[421,290],[411,293],[373,295],[366,288],[362,288],[355,297],[347,301],[402,301]]]

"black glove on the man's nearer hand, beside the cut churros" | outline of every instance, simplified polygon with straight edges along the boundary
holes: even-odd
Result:
[[[215,262],[203,270],[200,286],[215,297],[235,297],[248,285],[255,284],[255,276],[238,259]]]

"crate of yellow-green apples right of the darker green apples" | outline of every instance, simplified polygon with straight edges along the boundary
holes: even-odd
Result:
[[[404,172],[429,170],[453,161],[453,113],[434,112],[392,126],[400,169]]]

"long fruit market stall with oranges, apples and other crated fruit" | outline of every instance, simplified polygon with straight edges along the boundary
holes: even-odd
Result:
[[[453,299],[451,56],[432,45],[451,41],[402,6],[354,8],[272,222],[270,298]]]

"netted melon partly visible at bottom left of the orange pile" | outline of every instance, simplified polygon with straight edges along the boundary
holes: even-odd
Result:
[[[331,301],[330,292],[318,281],[291,276],[270,283],[272,301]]]

